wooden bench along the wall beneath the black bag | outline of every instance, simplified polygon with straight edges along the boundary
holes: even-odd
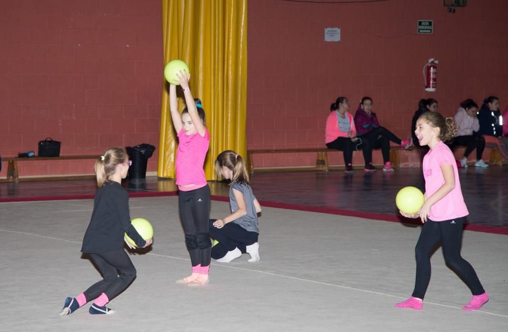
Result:
[[[0,179],[0,182],[19,182],[19,181],[51,181],[51,180],[75,180],[75,179],[93,179],[95,175],[69,175],[69,176],[47,176],[37,178],[19,178],[18,161],[40,161],[40,160],[78,160],[78,159],[97,159],[99,155],[74,155],[59,157],[2,157],[2,161],[7,161],[7,178]]]

